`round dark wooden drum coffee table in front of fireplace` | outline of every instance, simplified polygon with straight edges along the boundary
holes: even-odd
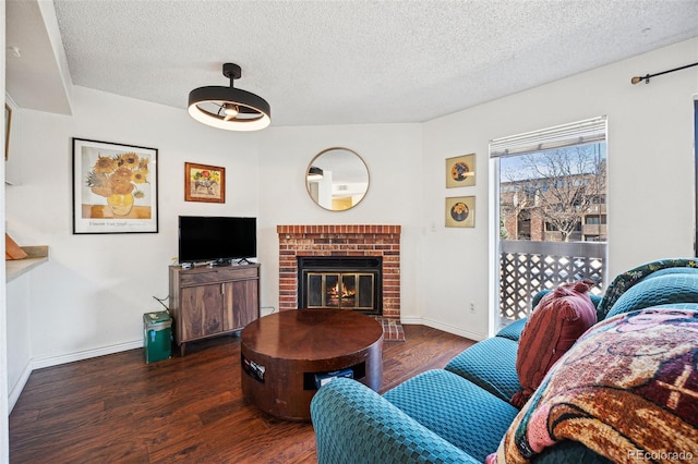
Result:
[[[298,309],[250,322],[241,333],[242,394],[260,410],[310,420],[318,386],[337,376],[377,391],[383,326],[347,309]]]

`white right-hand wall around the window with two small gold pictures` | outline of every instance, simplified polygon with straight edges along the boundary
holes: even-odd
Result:
[[[606,114],[609,276],[658,258],[694,256],[698,69],[649,85],[630,85],[630,77],[697,60],[694,39],[425,123],[422,222],[437,228],[420,244],[420,269],[440,270],[419,274],[425,322],[474,338],[489,333],[494,262],[488,242],[498,227],[488,211],[488,144],[495,137]],[[476,186],[445,188],[445,159],[469,152],[477,154]],[[443,227],[444,198],[459,195],[477,196],[474,229]]]

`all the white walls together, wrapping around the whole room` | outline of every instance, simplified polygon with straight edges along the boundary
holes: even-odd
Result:
[[[191,120],[183,108],[81,87],[73,117],[23,111],[22,184],[5,188],[8,229],[21,245],[50,246],[50,261],[31,276],[34,366],[140,345],[142,314],[159,309],[152,296],[168,291],[180,213],[258,217],[265,307],[278,307],[277,224],[400,224],[404,321],[483,338],[493,302],[488,141],[599,114],[607,114],[610,125],[609,272],[691,256],[698,70],[650,85],[630,86],[629,78],[694,62],[697,51],[698,39],[686,41],[424,124],[229,133]],[[72,234],[73,136],[159,149],[160,233]],[[324,210],[305,192],[309,161],[333,146],[359,152],[371,173],[365,199],[350,211]],[[447,190],[445,159],[469,152],[478,157],[477,184]],[[226,168],[225,205],[183,200],[185,161]],[[444,227],[445,197],[458,195],[477,196],[474,229]]]

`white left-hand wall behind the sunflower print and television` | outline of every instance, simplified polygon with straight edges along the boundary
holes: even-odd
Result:
[[[256,134],[82,87],[73,97],[72,117],[24,110],[23,125],[13,127],[23,175],[5,187],[8,230],[21,245],[49,245],[50,253],[31,274],[35,367],[141,345],[143,313],[161,309],[153,296],[168,294],[178,215],[257,215]],[[159,233],[72,234],[71,137],[159,150]],[[225,204],[184,202],[185,161],[226,168]]]

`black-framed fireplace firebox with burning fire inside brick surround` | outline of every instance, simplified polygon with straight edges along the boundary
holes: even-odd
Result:
[[[380,316],[382,268],[381,257],[299,256],[299,307],[350,309]]]

